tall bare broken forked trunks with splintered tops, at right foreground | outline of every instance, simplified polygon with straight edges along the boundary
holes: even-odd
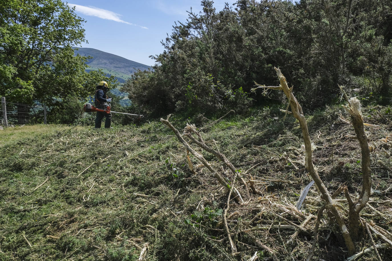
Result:
[[[319,222],[321,220],[321,216],[322,216],[324,209],[327,209],[328,216],[338,223],[338,225],[343,233],[343,238],[345,240],[348,252],[351,255],[353,255],[354,251],[355,251],[353,239],[354,239],[354,241],[358,241],[358,239],[359,239],[359,228],[360,228],[360,226],[359,226],[359,220],[360,220],[359,213],[361,212],[361,210],[365,206],[368,206],[370,209],[372,209],[378,215],[385,218],[385,215],[383,213],[381,213],[380,211],[378,211],[377,209],[375,209],[374,207],[372,207],[368,204],[368,201],[370,199],[370,190],[371,190],[370,150],[374,151],[375,149],[377,149],[377,145],[373,143],[372,146],[369,146],[369,143],[368,143],[369,135],[367,133],[365,133],[364,126],[379,127],[379,125],[364,123],[363,119],[362,119],[361,106],[360,106],[359,100],[356,99],[355,97],[348,99],[347,95],[345,95],[345,93],[343,91],[343,88],[341,88],[341,90],[343,92],[343,96],[346,98],[346,100],[348,102],[348,106],[347,107],[344,106],[344,108],[347,110],[347,112],[350,113],[350,116],[351,116],[352,122],[353,122],[352,126],[354,127],[354,131],[356,134],[355,138],[358,140],[360,148],[361,148],[362,160],[357,161],[357,162],[361,162],[362,181],[363,181],[362,182],[362,191],[361,191],[361,194],[359,195],[359,197],[352,198],[350,196],[350,194],[348,193],[347,187],[342,184],[333,195],[329,194],[323,181],[319,177],[318,169],[316,167],[314,167],[314,165],[313,165],[313,159],[312,159],[313,144],[310,141],[309,130],[307,128],[307,122],[305,121],[305,117],[302,112],[302,108],[299,105],[298,101],[296,100],[296,97],[292,94],[292,88],[289,88],[287,86],[287,82],[286,82],[286,79],[283,76],[283,74],[281,74],[281,72],[278,68],[275,68],[275,70],[277,72],[277,75],[278,75],[278,78],[279,78],[281,85],[279,86],[279,88],[277,86],[274,86],[273,89],[283,90],[283,92],[285,93],[285,95],[287,96],[287,99],[289,101],[289,105],[291,107],[292,114],[299,121],[299,124],[301,126],[301,131],[303,133],[303,139],[305,142],[305,145],[303,145],[303,151],[305,152],[305,167],[309,171],[310,176],[312,176],[314,182],[316,183],[316,186],[317,186],[319,192],[321,193],[321,198],[323,198],[323,200],[325,200],[325,202],[326,202],[326,204],[323,207],[321,207],[321,209],[319,209],[319,212],[318,212],[318,219],[316,220],[316,229],[314,230],[314,242],[313,242],[312,248],[310,250],[308,260],[310,260],[314,254],[314,250],[315,250],[317,239],[318,239],[317,230],[318,230]],[[259,88],[268,88],[268,87],[267,86],[260,86]],[[287,111],[287,109],[286,109],[286,111]],[[344,124],[349,123],[342,116],[339,117],[339,121],[343,122]],[[347,128],[349,128],[349,126]],[[345,133],[347,133],[347,131],[345,131]],[[319,134],[317,136],[318,139],[320,138],[320,135],[321,135],[321,132],[319,132]],[[338,139],[341,139],[344,135],[344,132],[341,132],[338,134],[335,133],[334,138],[339,137],[338,135],[340,135],[340,138],[338,138]],[[345,135],[345,136],[347,136],[347,135]],[[351,136],[353,136],[353,135],[351,135]],[[386,140],[387,139],[385,139],[385,142],[386,142]],[[293,155],[293,157],[295,157],[295,156]],[[330,158],[333,159],[333,154],[332,154],[332,156],[330,156],[328,158],[328,160]],[[290,161],[290,163],[292,164],[292,161]],[[378,163],[380,164],[380,162],[378,162]],[[383,164],[380,164],[380,165],[383,166]],[[384,167],[384,168],[387,169],[386,167]],[[358,169],[358,171],[360,171],[360,170]],[[345,202],[348,203],[348,210],[344,209],[344,207],[341,205],[335,204],[334,200],[333,200],[342,191],[345,191],[345,196],[346,196]],[[388,189],[387,189],[387,191],[388,191]],[[338,211],[338,208],[342,209],[344,213],[348,214],[348,228],[345,225],[345,221],[344,221],[345,217],[341,215],[341,213]],[[293,213],[294,212],[292,212],[292,214]],[[285,220],[285,218],[283,216],[279,216],[276,213],[273,213],[273,214],[275,216],[278,216],[281,220]],[[297,215],[295,215],[295,216],[297,216]],[[301,221],[303,221],[303,220],[301,220]],[[290,224],[290,222],[288,222],[288,223]],[[304,222],[304,223],[306,223],[306,222]],[[370,230],[374,229],[374,233],[379,238],[381,238],[383,241],[385,241],[387,243],[392,243],[392,241],[390,241],[388,239],[388,237],[385,236],[385,234],[383,234],[383,232],[380,232],[378,227],[373,226],[372,228],[370,228],[367,224],[365,224],[365,225],[367,226],[367,229],[370,229]],[[297,227],[297,226],[298,225],[295,224],[295,227]],[[273,227],[273,225],[271,224],[270,227]],[[302,226],[298,226],[298,227],[301,227],[301,229],[303,229]],[[295,234],[295,236],[297,236],[297,235],[298,235],[298,233]],[[291,241],[292,241],[292,239],[291,239]],[[375,248],[375,249],[377,248],[375,243],[373,243],[373,248]]]

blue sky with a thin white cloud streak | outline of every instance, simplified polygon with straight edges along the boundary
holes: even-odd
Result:
[[[174,22],[185,22],[190,7],[197,13],[201,10],[199,0],[69,1],[70,6],[76,6],[76,14],[87,21],[84,28],[88,43],[81,47],[102,50],[145,65],[154,64],[150,55],[163,52],[160,41],[166,38],[166,33],[171,34]],[[217,11],[224,5],[224,0],[214,1]]]

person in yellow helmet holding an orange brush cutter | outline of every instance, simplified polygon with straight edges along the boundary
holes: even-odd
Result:
[[[96,86],[96,91],[94,95],[94,104],[95,107],[92,106],[90,103],[86,103],[83,107],[83,110],[85,112],[96,112],[97,116],[95,118],[95,128],[101,128],[101,121],[103,117],[106,117],[105,119],[105,128],[111,128],[111,119],[112,119],[112,112],[110,109],[110,103],[112,101],[111,97],[108,97],[106,93],[109,91],[109,87],[107,85],[107,82],[101,81],[97,86]],[[113,112],[113,113],[120,113],[120,114],[125,114],[125,115],[131,115],[131,116],[138,116],[139,118],[142,118],[143,115],[140,114],[132,114],[132,113],[125,113],[125,112]]]

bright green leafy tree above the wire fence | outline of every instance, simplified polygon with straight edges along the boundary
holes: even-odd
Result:
[[[0,5],[0,96],[17,103],[50,104],[87,97],[103,72],[87,74],[86,57],[72,46],[85,41],[84,20],[61,0],[3,0]]]

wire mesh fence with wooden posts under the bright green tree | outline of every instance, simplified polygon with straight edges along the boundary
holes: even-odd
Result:
[[[44,122],[44,105],[2,102],[3,126]]]

